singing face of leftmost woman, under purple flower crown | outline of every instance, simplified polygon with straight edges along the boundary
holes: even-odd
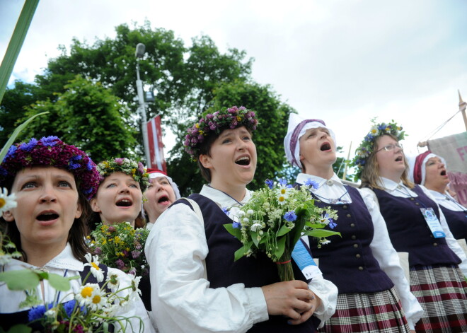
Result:
[[[26,168],[16,174],[11,192],[17,206],[4,212],[4,219],[16,223],[23,250],[64,248],[82,213],[74,175],[54,167]]]

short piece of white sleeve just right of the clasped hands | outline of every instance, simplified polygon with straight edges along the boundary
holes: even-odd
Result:
[[[318,327],[321,328],[324,322],[334,315],[338,301],[338,287],[331,281],[323,279],[322,275],[318,275],[309,282],[308,288],[321,299],[321,305],[313,312],[313,315],[321,320]]]

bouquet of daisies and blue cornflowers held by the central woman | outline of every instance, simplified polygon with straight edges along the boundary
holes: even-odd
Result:
[[[309,235],[318,239],[318,246],[329,243],[327,237],[340,233],[323,228],[334,228],[338,216],[335,210],[314,205],[311,185],[294,189],[283,179],[279,183],[266,180],[266,185],[253,192],[234,222],[224,227],[243,244],[235,260],[265,252],[277,263],[281,281],[290,281],[294,279],[291,256],[296,242]]]

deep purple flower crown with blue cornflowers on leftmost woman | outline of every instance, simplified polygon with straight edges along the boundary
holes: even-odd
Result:
[[[96,194],[100,178],[96,164],[84,151],[65,144],[57,136],[44,136],[40,140],[32,138],[27,144],[13,144],[0,165],[0,185],[24,168],[41,165],[72,173],[88,199]]]

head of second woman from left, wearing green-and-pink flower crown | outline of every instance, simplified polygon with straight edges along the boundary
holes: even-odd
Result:
[[[145,226],[141,214],[143,192],[149,177],[141,162],[128,158],[112,158],[99,163],[99,187],[91,199],[91,224],[111,225],[129,222],[132,226]]]

